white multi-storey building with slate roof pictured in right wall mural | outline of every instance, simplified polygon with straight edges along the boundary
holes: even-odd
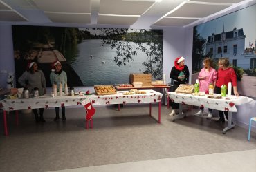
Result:
[[[222,33],[208,36],[206,54],[215,59],[229,58],[231,65],[243,69],[256,68],[255,47],[245,49],[245,38],[243,28],[225,32],[223,25]]]

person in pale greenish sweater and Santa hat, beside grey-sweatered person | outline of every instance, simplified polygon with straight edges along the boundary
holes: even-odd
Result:
[[[60,61],[54,61],[52,63],[52,72],[50,74],[50,81],[51,84],[57,83],[57,89],[59,89],[60,83],[62,84],[62,90],[59,90],[59,92],[64,91],[65,84],[67,82],[66,72],[62,70],[62,64]],[[60,120],[59,116],[60,107],[55,107],[55,118],[54,121]],[[62,120],[66,120],[65,115],[65,107],[62,106]]]

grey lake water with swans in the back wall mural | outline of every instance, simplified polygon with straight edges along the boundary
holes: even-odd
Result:
[[[69,61],[84,85],[129,83],[130,73],[143,72],[142,63],[148,58],[145,52],[138,51],[134,61],[119,67],[113,60],[116,50],[112,50],[110,45],[102,46],[101,43],[101,39],[82,41],[77,45],[78,53]]]

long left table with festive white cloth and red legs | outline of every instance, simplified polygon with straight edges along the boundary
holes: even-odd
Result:
[[[18,124],[18,110],[23,109],[38,109],[50,107],[60,107],[60,106],[73,106],[73,105],[84,105],[86,111],[86,105],[90,103],[94,105],[110,105],[110,104],[127,104],[127,103],[149,103],[149,115],[151,115],[151,105],[152,103],[158,103],[158,122],[161,122],[161,98],[163,94],[156,92],[154,90],[145,90],[146,94],[133,94],[124,95],[127,91],[120,91],[117,94],[102,95],[98,96],[95,94],[82,96],[55,96],[51,97],[50,94],[45,94],[44,96],[39,96],[38,98],[21,98],[21,99],[3,99],[1,100],[3,109],[3,125],[4,133],[8,136],[8,126],[6,119],[6,111],[16,111],[16,122]],[[94,114],[93,114],[94,115]],[[88,122],[91,122],[91,127],[93,125],[93,120],[90,118],[86,120],[86,129],[88,129]]]

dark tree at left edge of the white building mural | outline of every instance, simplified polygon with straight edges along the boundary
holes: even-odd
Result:
[[[193,30],[193,55],[192,55],[192,73],[201,70],[206,40],[197,32],[196,27]]]

